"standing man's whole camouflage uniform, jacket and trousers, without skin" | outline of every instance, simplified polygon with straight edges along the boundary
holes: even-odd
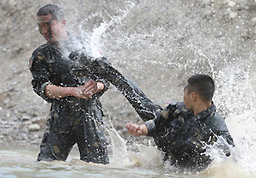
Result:
[[[77,41],[76,41],[77,42]],[[76,43],[83,49],[82,43]],[[73,145],[77,144],[80,159],[93,163],[109,163],[107,157],[107,139],[102,128],[102,110],[99,97],[109,86],[106,80],[88,75],[77,78],[70,72],[69,54],[74,48],[72,38],[62,49],[56,45],[45,44],[34,50],[30,59],[30,71],[33,75],[32,86],[41,98],[52,103],[47,119],[46,133],[40,145],[38,160],[66,160]],[[44,90],[48,84],[55,86],[81,86],[92,79],[101,81],[104,90],[94,94],[93,98],[46,98]]]

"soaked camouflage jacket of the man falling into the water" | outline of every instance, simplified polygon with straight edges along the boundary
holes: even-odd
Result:
[[[148,135],[153,136],[155,144],[165,152],[165,160],[181,169],[207,168],[211,158],[204,151],[218,137],[234,146],[229,130],[213,103],[207,110],[193,116],[192,110],[186,110],[184,103],[172,102],[162,110],[161,116],[145,124],[149,129]],[[230,154],[229,145],[222,145],[227,156]]]

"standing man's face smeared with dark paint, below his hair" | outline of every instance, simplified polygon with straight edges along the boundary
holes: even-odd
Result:
[[[65,21],[52,20],[52,15],[37,16],[39,31],[48,43],[62,40]]]

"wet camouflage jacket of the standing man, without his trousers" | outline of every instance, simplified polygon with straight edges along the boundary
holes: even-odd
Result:
[[[30,71],[34,78],[32,80],[32,86],[34,88],[34,92],[36,92],[41,98],[44,98],[46,101],[51,103],[58,100],[46,98],[44,90],[48,84],[64,87],[81,86],[89,79],[101,81],[105,86],[103,91],[94,94],[94,98],[98,98],[103,92],[106,92],[109,86],[109,83],[106,80],[99,79],[94,75],[77,78],[72,74],[72,72],[70,72],[71,62],[68,58],[70,52],[78,49],[88,53],[88,50],[84,47],[86,44],[82,44],[81,41],[81,39],[70,37],[62,49],[58,48],[56,45],[47,43],[45,45],[41,45],[37,50],[34,50],[34,53],[30,58]],[[69,100],[69,98],[71,97],[65,99]]]

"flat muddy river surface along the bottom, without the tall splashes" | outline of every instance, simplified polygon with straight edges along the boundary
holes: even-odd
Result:
[[[255,177],[252,172],[248,172],[244,165],[239,165],[232,160],[222,163],[214,163],[209,169],[201,173],[177,173],[167,168],[163,164],[141,165],[134,164],[134,157],[127,158],[124,162],[114,163],[110,157],[110,164],[101,165],[94,163],[84,163],[76,157],[75,151],[71,152],[67,162],[36,162],[37,149],[15,149],[1,148],[0,150],[0,177],[174,177],[174,178],[246,178]],[[149,153],[149,152],[148,152]]]

